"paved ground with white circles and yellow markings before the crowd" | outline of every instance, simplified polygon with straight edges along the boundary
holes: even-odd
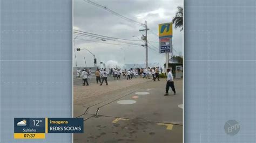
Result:
[[[84,118],[85,132],[74,142],[183,142],[183,82],[174,85],[175,96],[164,96],[164,79],[75,86],[74,117]]]

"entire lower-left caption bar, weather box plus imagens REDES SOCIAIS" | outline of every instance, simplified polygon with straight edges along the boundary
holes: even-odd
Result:
[[[45,139],[47,133],[84,133],[84,118],[14,118],[15,139]]]

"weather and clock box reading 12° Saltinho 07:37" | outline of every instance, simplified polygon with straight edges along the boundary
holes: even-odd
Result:
[[[15,139],[44,139],[45,118],[14,118]]]

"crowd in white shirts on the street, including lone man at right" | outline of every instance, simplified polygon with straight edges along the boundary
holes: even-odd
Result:
[[[127,80],[131,80],[133,77],[137,78],[137,77],[142,77],[142,78],[150,78],[152,76],[153,81],[156,81],[156,79],[158,81],[159,80],[159,74],[163,73],[163,69],[159,68],[159,67],[153,67],[153,68],[136,68],[136,69],[123,69],[121,71],[121,69],[118,68],[111,68],[109,69],[109,71],[107,71],[106,69],[97,69],[95,71],[95,75],[96,75],[96,82],[97,84],[100,83],[99,85],[102,85],[103,82],[106,82],[106,85],[108,85],[107,83],[107,76],[113,76],[114,80],[120,80],[120,76],[123,74],[123,77],[126,78]],[[90,79],[92,75],[91,69],[83,69],[82,72],[80,72],[80,69],[77,69],[77,78],[82,77],[83,78],[83,85],[89,85],[88,83],[88,78]],[[174,92],[174,95],[176,95],[176,90],[174,88],[174,82],[173,82],[173,76],[172,76],[172,72],[170,69],[167,69],[167,83],[166,83],[166,95],[168,95],[169,92],[169,88],[171,87],[172,91]]]

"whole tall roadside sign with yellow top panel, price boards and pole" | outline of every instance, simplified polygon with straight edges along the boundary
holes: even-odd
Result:
[[[169,68],[169,53],[172,53],[172,23],[158,25],[159,53],[165,53],[165,72]]]

